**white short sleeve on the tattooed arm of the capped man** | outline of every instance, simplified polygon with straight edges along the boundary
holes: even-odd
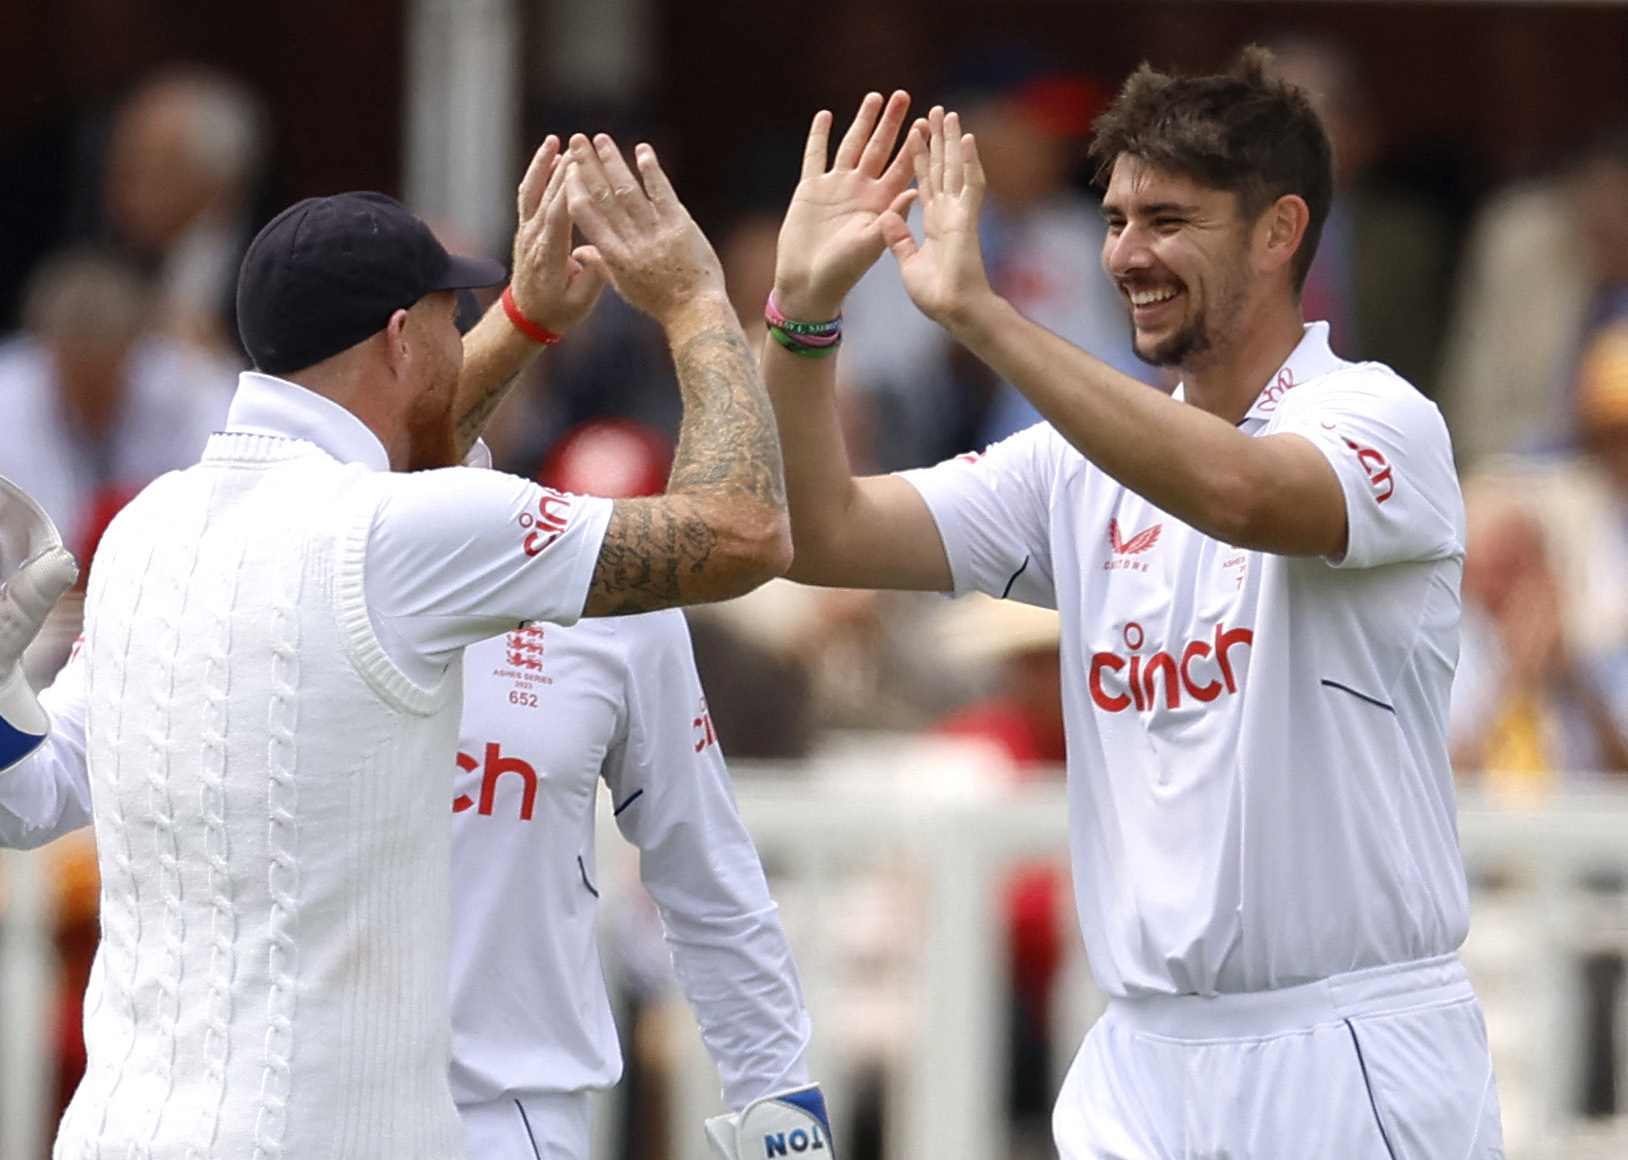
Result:
[[[526,621],[581,617],[610,499],[467,467],[384,478],[366,592],[386,648],[446,661]]]

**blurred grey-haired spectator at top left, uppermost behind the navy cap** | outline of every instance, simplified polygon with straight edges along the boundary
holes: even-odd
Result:
[[[168,68],[120,104],[103,169],[103,236],[153,277],[155,325],[238,358],[231,299],[257,225],[265,138],[247,88],[200,67]]]

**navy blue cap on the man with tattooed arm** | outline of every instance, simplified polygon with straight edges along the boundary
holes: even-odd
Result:
[[[238,270],[238,335],[256,369],[287,374],[378,334],[425,294],[506,277],[501,262],[448,254],[392,197],[308,197],[249,242]]]

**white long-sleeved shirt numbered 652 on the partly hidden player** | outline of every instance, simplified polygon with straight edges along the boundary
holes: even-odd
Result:
[[[532,625],[464,656],[453,809],[453,1095],[622,1074],[596,937],[601,778],[640,851],[724,1101],[807,1082],[809,1018],[677,610]]]

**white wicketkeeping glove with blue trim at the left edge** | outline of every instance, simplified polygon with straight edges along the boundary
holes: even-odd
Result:
[[[44,509],[0,477],[0,770],[33,753],[50,717],[23,675],[23,649],[39,635],[80,569]]]

